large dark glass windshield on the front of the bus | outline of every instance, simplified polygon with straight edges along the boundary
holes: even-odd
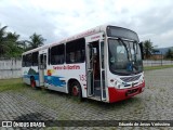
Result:
[[[108,39],[109,69],[116,75],[133,75],[143,72],[141,49],[136,41]]]

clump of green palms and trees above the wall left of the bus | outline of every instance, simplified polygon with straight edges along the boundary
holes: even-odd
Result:
[[[0,26],[0,57],[21,57],[22,53],[43,46],[45,40],[36,32],[30,36],[30,41],[19,40],[16,32],[6,31],[8,26]]]

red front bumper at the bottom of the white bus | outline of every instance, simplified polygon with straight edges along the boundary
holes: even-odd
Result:
[[[108,88],[109,103],[127,100],[144,91],[145,82],[130,89]]]

